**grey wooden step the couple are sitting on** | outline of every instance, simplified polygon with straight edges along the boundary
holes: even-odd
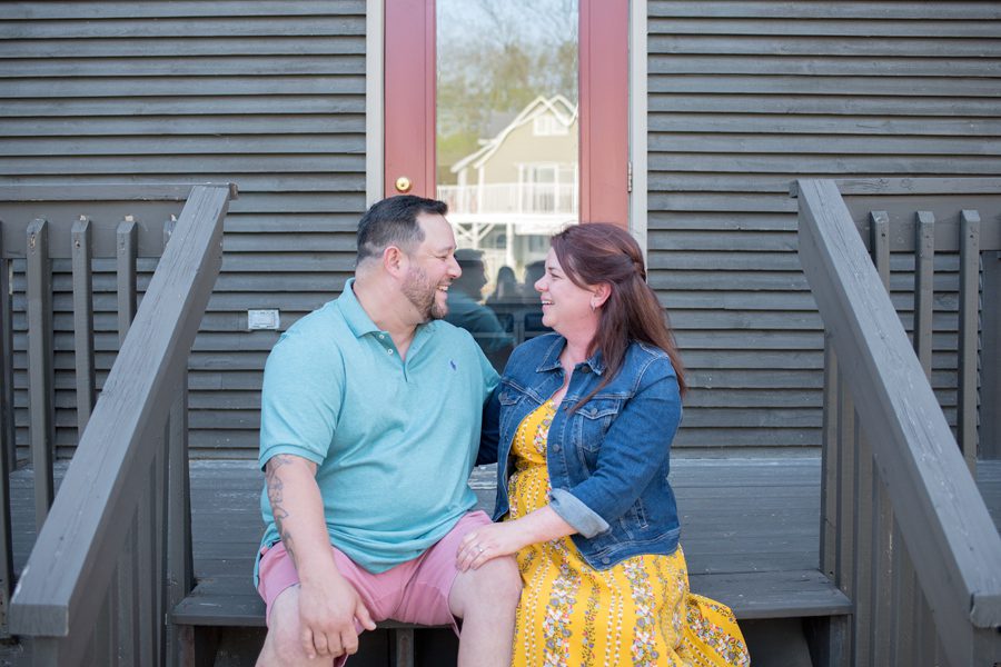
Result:
[[[852,604],[817,570],[700,574],[692,590],[730,605],[739,619],[851,614]],[[202,579],[174,609],[189,626],[262,627],[265,606],[247,577]],[[379,627],[407,627],[381,623]]]

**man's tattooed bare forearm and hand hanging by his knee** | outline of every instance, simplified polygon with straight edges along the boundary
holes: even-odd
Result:
[[[265,466],[268,500],[285,550],[299,575],[299,618],[306,655],[339,656],[358,650],[355,619],[369,630],[375,624],[354,587],[334,563],[316,484],[316,464],[279,454]]]

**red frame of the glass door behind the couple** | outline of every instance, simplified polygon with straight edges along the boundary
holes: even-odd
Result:
[[[435,2],[385,0],[384,189],[435,196]],[[630,3],[579,0],[581,221],[628,228]]]

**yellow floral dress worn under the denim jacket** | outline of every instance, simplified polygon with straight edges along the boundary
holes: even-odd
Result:
[[[525,417],[512,451],[507,520],[548,504],[546,439],[556,408]],[[524,590],[514,639],[516,667],[750,665],[729,607],[688,591],[681,547],[605,570],[584,561],[569,537],[517,554]]]

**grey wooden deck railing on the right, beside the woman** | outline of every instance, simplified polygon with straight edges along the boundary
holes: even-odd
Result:
[[[854,603],[849,631],[829,638],[831,661],[993,666],[1001,538],[971,469],[978,387],[997,386],[999,374],[979,375],[978,358],[994,352],[978,345],[978,307],[982,293],[985,313],[1001,307],[987,297],[998,286],[981,286],[981,253],[998,261],[1001,250],[1001,181],[841,185],[858,195],[852,210],[834,181],[793,187],[800,259],[825,327],[821,566]],[[961,445],[929,381],[936,246],[959,255]],[[891,249],[915,252],[913,344],[888,292]]]

